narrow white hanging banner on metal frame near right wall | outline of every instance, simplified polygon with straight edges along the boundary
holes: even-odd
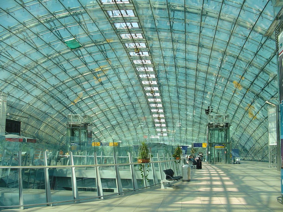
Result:
[[[276,108],[268,108],[268,144],[277,144],[277,132],[276,132]]]

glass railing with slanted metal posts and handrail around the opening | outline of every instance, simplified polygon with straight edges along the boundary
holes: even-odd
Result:
[[[130,152],[134,148],[85,148],[61,156],[12,148],[0,156],[0,209],[90,201],[157,185],[164,169],[181,173],[181,163],[165,152],[156,151],[151,162],[140,164]]]

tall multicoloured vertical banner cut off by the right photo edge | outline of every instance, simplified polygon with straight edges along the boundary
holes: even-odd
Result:
[[[283,198],[283,32],[278,36],[279,96],[280,96],[280,140],[281,140],[281,195]]]

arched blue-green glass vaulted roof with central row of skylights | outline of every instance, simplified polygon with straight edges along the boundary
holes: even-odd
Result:
[[[97,142],[206,141],[205,109],[230,116],[232,148],[267,160],[278,95],[269,0],[6,0],[0,90],[22,135],[66,142],[68,114]],[[14,114],[14,115],[12,115]]]

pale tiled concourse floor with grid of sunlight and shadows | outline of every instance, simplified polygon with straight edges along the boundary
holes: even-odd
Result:
[[[282,212],[280,172],[268,163],[208,165],[192,170],[190,182],[174,189],[154,186],[94,202],[25,209],[25,212]],[[6,210],[5,210],[6,211]],[[22,211],[10,209],[7,211]]]

